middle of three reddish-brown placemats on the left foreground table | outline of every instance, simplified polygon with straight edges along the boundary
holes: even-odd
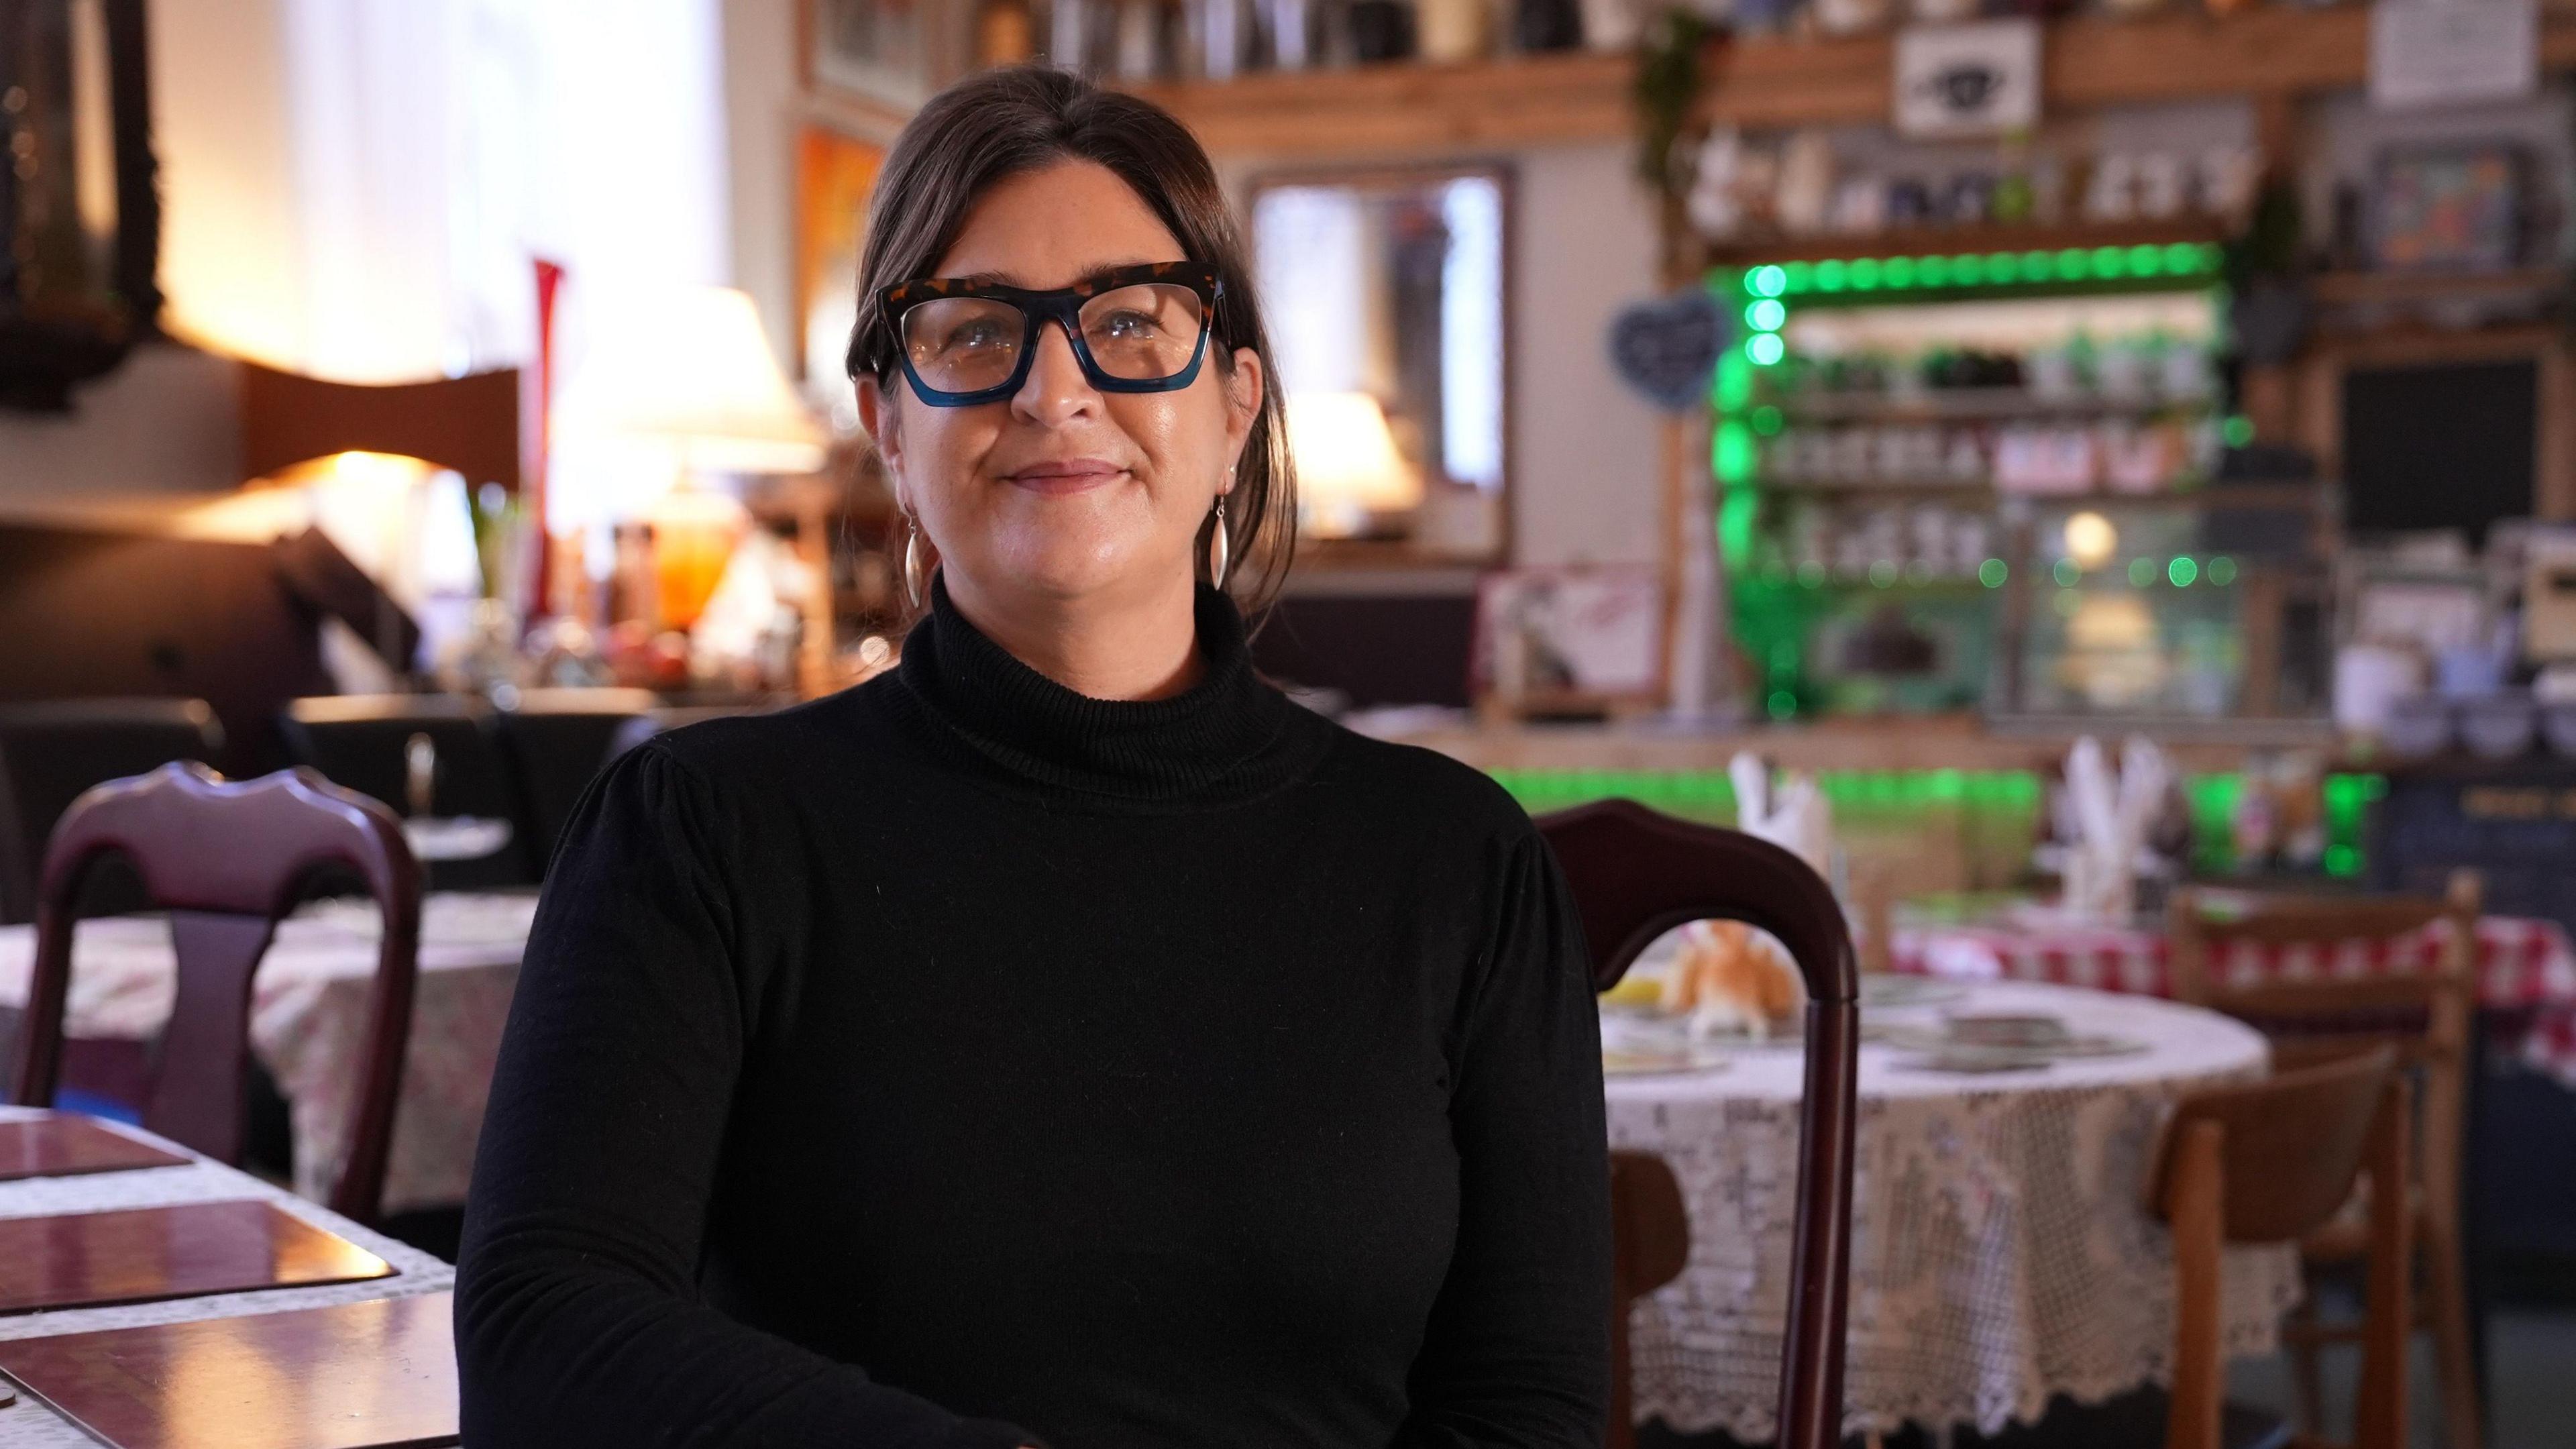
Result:
[[[0,1217],[0,1312],[386,1276],[384,1258],[260,1199]]]

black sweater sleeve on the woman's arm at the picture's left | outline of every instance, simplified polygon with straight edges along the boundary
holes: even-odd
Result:
[[[456,1276],[482,1449],[1015,1449],[698,1297],[698,1243],[750,1034],[732,828],[641,745],[556,853],[484,1114]]]

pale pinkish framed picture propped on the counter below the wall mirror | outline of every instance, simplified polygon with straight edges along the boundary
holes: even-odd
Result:
[[[1664,688],[1664,588],[1646,565],[1497,570],[1476,583],[1471,686],[1504,709],[1649,704]]]

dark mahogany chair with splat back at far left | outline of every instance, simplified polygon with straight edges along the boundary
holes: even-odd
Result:
[[[227,784],[206,766],[170,763],[82,794],[44,859],[36,975],[10,1096],[21,1106],[54,1101],[72,982],[72,902],[80,877],[108,853],[126,856],[152,902],[170,913],[178,957],[178,1000],[162,1029],[144,1127],[224,1163],[242,1158],[250,977],[278,918],[314,869],[337,866],[366,879],[384,910],[384,951],[348,1104],[348,1160],[330,1207],[374,1222],[420,962],[420,864],[402,822],[384,804],[301,768]]]

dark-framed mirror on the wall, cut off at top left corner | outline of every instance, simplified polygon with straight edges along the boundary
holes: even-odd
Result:
[[[0,407],[62,413],[152,333],[144,0],[0,0]]]

